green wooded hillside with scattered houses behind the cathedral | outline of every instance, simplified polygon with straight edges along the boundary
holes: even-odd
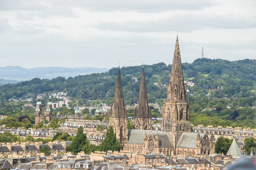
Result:
[[[148,102],[163,105],[166,85],[169,82],[171,65],[158,63],[144,65],[148,91]],[[14,113],[16,104],[7,99],[33,97],[52,91],[65,91],[71,96],[70,106],[97,106],[97,103],[113,104],[118,68],[108,72],[78,77],[57,77],[55,79],[32,79],[17,84],[0,86],[0,114]],[[136,101],[140,90],[142,66],[121,68],[125,104]],[[247,126],[256,128],[256,60],[227,61],[222,59],[196,59],[183,63],[183,75],[194,86],[186,86],[186,93],[192,111],[193,125]],[[56,98],[52,99],[53,102]],[[91,102],[88,102],[92,100]],[[42,103],[47,102],[47,97]],[[99,102],[100,101],[100,102]],[[11,106],[12,105],[12,106]],[[24,104],[23,104],[24,105]],[[22,103],[20,104],[20,108]],[[227,108],[228,106],[228,108]],[[16,113],[16,111],[15,111]],[[129,112],[132,116],[132,112]],[[153,112],[152,112],[153,113]],[[153,114],[152,114],[153,115]]]

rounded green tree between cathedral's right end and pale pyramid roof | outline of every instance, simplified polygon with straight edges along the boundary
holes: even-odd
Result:
[[[228,139],[223,136],[220,136],[217,139],[217,142],[215,142],[215,153],[221,152],[221,153],[224,153],[224,155],[226,155],[232,142],[233,142],[233,139]]]

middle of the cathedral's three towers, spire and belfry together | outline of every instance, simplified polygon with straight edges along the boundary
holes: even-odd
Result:
[[[152,130],[152,115],[150,108],[148,108],[148,96],[146,89],[144,67],[142,70],[140,82],[138,106],[135,108],[134,114],[134,129]]]

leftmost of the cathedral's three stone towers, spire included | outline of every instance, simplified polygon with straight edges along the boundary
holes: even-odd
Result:
[[[113,126],[116,133],[116,139],[120,144],[128,142],[128,115],[125,109],[120,68],[118,68],[118,75],[116,80],[116,91],[113,106],[109,115],[109,123]]]

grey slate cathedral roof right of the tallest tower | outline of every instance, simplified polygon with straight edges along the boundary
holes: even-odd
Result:
[[[201,139],[205,136],[204,133],[199,134]],[[198,133],[182,133],[176,147],[195,148],[197,135]]]

